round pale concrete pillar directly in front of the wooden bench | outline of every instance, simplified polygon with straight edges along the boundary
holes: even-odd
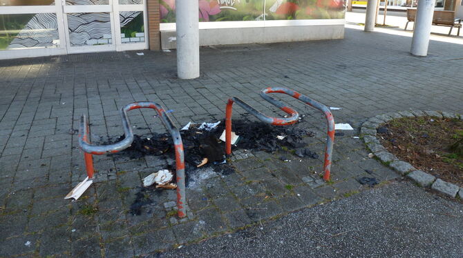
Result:
[[[419,0],[415,30],[413,31],[412,48],[410,52],[419,57],[428,55],[429,37],[433,24],[435,0]]]

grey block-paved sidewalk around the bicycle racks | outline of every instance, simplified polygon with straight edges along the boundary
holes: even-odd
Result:
[[[176,79],[175,52],[78,54],[17,59],[0,64],[0,257],[133,257],[220,235],[294,210],[363,191],[355,179],[381,182],[398,175],[368,159],[358,135],[362,121],[399,110],[463,112],[463,52],[455,43],[433,40],[429,57],[410,56],[410,37],[364,33],[350,25],[346,39],[202,48],[199,79]],[[406,32],[409,33],[409,32]],[[434,39],[434,37],[433,37]],[[89,116],[91,137],[122,135],[118,109],[133,101],[155,101],[177,126],[225,117],[228,97],[275,112],[258,97],[266,87],[288,87],[333,111],[337,123],[356,130],[335,139],[332,183],[314,184],[321,159],[283,162],[274,155],[231,163],[236,172],[187,189],[191,216],[172,216],[172,190],[147,192],[153,203],[140,216],[129,210],[141,179],[167,166],[168,159],[95,157],[99,181],[79,201],[63,197],[85,177],[77,129]],[[279,97],[279,96],[278,96]],[[316,133],[308,146],[320,156],[325,121],[290,97],[288,106],[305,115],[299,126]],[[234,109],[243,118],[244,110]],[[281,112],[278,112],[281,114]],[[131,111],[138,135],[164,132],[154,112]],[[296,159],[294,156],[290,156]],[[408,187],[408,186],[400,186]]]

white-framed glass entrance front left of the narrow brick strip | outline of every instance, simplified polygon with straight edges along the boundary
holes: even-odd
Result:
[[[0,0],[0,52],[145,49],[145,22],[146,0]]]

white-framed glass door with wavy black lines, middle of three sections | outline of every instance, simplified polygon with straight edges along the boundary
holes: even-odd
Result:
[[[62,0],[69,54],[116,50],[113,1]]]

